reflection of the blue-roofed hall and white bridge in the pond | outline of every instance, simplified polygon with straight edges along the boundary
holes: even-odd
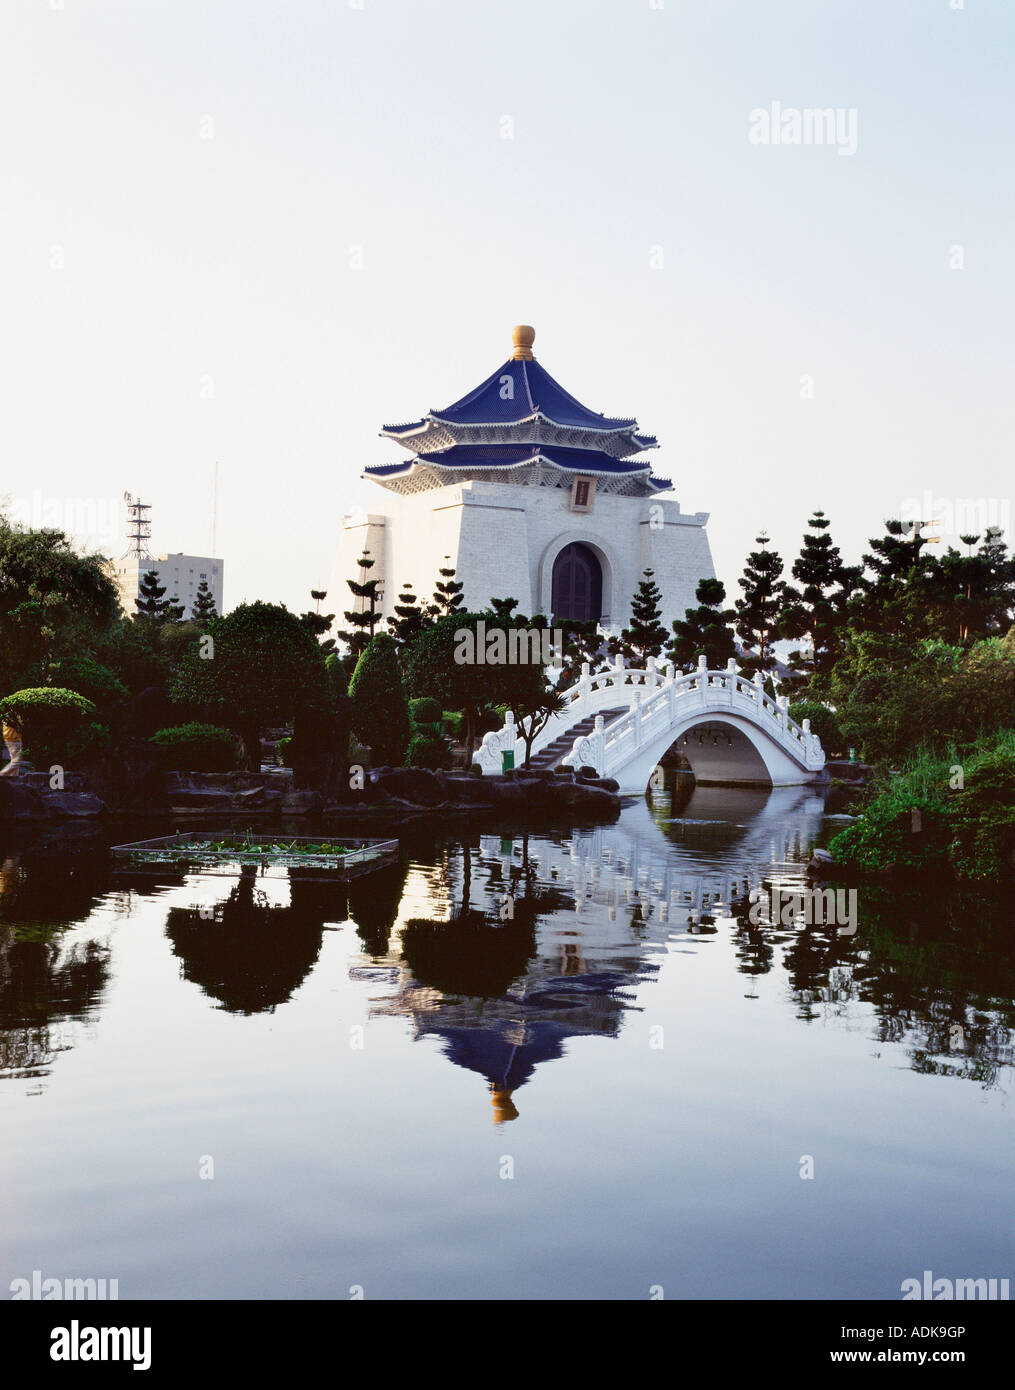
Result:
[[[719,799],[747,817],[742,827],[720,821],[733,830],[729,867],[715,835],[708,867],[694,853],[681,863],[649,816],[538,847],[480,837],[477,851],[449,860],[452,915],[405,924],[400,955],[380,976],[396,990],[373,1013],[410,1019],[417,1040],[439,1038],[449,1061],[485,1079],[495,1122],[514,1119],[514,1093],[539,1063],[562,1058],[569,1038],[616,1037],[626,1013],[640,1012],[635,990],[655,977],[667,941],[713,933],[716,916],[744,908],[773,863],[802,852],[822,813],[820,798],[799,788],[724,790]],[[708,795],[698,808],[709,810]],[[787,872],[802,878],[801,863]]]

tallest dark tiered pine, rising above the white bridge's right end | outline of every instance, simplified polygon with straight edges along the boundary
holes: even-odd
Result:
[[[787,678],[784,684],[790,688],[806,685],[811,676],[823,676],[834,666],[845,607],[862,574],[859,566],[843,564],[823,512],[815,512],[808,525],[812,530],[804,534],[804,545],[793,562],[793,577],[799,588],[786,585],[779,621],[781,637],[809,638],[809,651],[790,653],[790,664],[801,673]]]

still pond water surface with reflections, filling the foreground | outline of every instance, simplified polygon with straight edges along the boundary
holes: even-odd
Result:
[[[870,888],[855,934],[752,924],[840,824],[699,788],[403,831],[348,891],[0,841],[0,1297],[36,1269],[121,1298],[1011,1277],[1011,908]]]

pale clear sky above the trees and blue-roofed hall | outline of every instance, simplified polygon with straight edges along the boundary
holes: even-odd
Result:
[[[815,507],[847,560],[1008,527],[1014,40],[1011,0],[0,0],[0,500],[120,555],[129,491],[227,609],[304,609],[380,428],[527,322],[731,596]]]

